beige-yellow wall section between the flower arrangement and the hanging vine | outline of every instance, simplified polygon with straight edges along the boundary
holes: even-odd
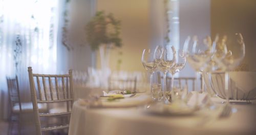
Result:
[[[124,71],[145,71],[141,63],[142,51],[148,48],[150,42],[148,0],[98,0],[97,10],[113,13],[121,20],[122,48],[112,50],[110,68],[117,70],[117,60],[122,59],[120,66]],[[121,51],[122,56],[118,56]],[[99,59],[98,59],[98,67]]]

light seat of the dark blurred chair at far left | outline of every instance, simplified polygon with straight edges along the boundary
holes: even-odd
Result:
[[[22,105],[23,112],[32,112],[33,111],[33,104],[32,102],[20,103]],[[38,104],[38,109],[40,111],[46,111],[47,107],[46,104]],[[19,104],[15,103],[12,107],[13,113],[19,113]]]

